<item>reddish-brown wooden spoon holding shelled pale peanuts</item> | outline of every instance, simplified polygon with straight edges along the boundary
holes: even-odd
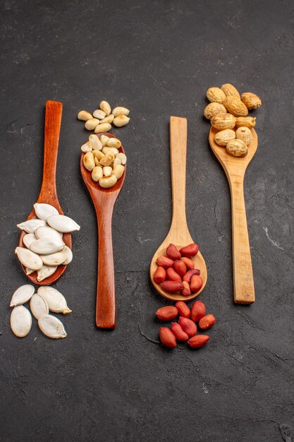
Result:
[[[99,133],[97,136],[106,135],[116,138],[111,133]],[[123,146],[119,149],[125,153]],[[114,282],[114,253],[112,250],[111,219],[114,203],[125,181],[125,171],[114,186],[104,189],[92,180],[82,160],[85,153],[80,155],[80,171],[88,191],[92,197],[97,215],[98,227],[98,276],[97,276],[97,301],[96,325],[99,328],[116,327],[116,289]]]

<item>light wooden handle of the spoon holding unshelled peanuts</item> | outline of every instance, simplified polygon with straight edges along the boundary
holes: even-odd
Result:
[[[243,177],[231,180],[234,300],[238,304],[255,302],[255,284],[244,201]]]

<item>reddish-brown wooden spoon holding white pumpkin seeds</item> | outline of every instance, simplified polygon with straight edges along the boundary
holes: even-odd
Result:
[[[44,167],[43,181],[37,203],[46,203],[53,205],[63,215],[56,192],[56,162],[59,150],[59,132],[61,126],[62,103],[57,101],[47,101],[45,109],[45,133],[44,133]],[[35,210],[32,209],[27,220],[35,218]],[[25,247],[23,237],[25,232],[21,232],[18,246]],[[71,234],[63,233],[63,242],[71,249]],[[25,272],[25,266],[22,265]],[[53,275],[39,282],[37,272],[26,275],[35,285],[51,285],[66,271],[67,265],[59,265]]]

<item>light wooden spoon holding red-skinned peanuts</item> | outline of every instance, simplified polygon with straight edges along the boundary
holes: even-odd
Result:
[[[195,268],[200,269],[200,276],[203,285],[197,293],[192,293],[188,297],[182,294],[173,294],[162,289],[161,285],[153,280],[153,275],[157,269],[157,258],[165,256],[166,248],[169,244],[175,244],[180,249],[193,243],[190,235],[185,212],[185,186],[186,186],[186,153],[187,153],[187,119],[179,117],[171,117],[170,121],[170,139],[171,139],[171,186],[173,193],[173,217],[171,220],[171,228],[164,242],[154,253],[150,264],[150,278],[157,292],[171,301],[190,301],[197,297],[204,289],[207,283],[207,268],[204,258],[200,251],[192,258]]]

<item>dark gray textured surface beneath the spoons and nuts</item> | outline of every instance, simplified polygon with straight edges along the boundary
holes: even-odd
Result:
[[[1,18],[1,441],[294,441],[293,2],[4,0]],[[252,306],[233,304],[230,195],[202,118],[207,88],[226,82],[264,103],[245,181]],[[76,120],[102,99],[132,117],[114,131],[128,174],[114,210],[112,332],[94,326],[96,220]],[[13,250],[42,179],[46,100],[64,105],[58,193],[81,225],[56,284],[73,313],[61,318],[65,340],[35,321],[20,340],[8,302],[27,280]],[[201,299],[217,318],[198,352],[149,340],[168,304],[148,268],[171,220],[170,115],[188,118],[188,222],[209,271]]]

